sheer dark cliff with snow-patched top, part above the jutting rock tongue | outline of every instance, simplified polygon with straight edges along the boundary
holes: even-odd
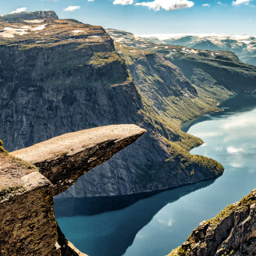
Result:
[[[133,123],[140,96],[101,27],[52,16],[0,26],[1,135],[9,151],[110,124],[110,116],[112,123]],[[128,102],[131,115],[124,118]]]

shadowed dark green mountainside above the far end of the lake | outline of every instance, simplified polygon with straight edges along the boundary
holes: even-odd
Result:
[[[212,77],[215,81],[213,91],[209,86],[206,91],[213,92],[216,97],[223,97],[231,93],[248,93],[254,92],[256,67],[240,62],[236,55],[232,52],[215,52],[215,56],[209,56],[211,52],[206,51],[204,54],[184,55],[183,52],[178,52],[172,55],[172,62],[179,66],[183,73],[196,84],[204,89],[204,80],[197,77],[198,70],[201,69],[201,76]],[[210,83],[211,84],[211,83]],[[226,91],[226,90],[227,91]],[[224,98],[224,97],[223,97]]]

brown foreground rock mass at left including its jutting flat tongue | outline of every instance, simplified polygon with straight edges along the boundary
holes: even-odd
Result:
[[[98,127],[13,152],[39,169],[23,159],[0,154],[0,254],[85,255],[57,226],[53,196],[144,132],[134,125]]]

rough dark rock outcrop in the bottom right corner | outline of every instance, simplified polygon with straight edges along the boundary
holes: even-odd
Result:
[[[169,256],[256,254],[256,190],[227,206],[214,219],[201,222],[187,241]]]

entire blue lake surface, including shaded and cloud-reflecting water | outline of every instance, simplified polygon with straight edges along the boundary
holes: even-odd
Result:
[[[90,256],[163,256],[201,221],[256,188],[256,97],[233,97],[220,107],[223,112],[196,119],[183,130],[204,140],[191,153],[220,162],[221,177],[151,197],[56,200],[55,214],[67,239]]]

